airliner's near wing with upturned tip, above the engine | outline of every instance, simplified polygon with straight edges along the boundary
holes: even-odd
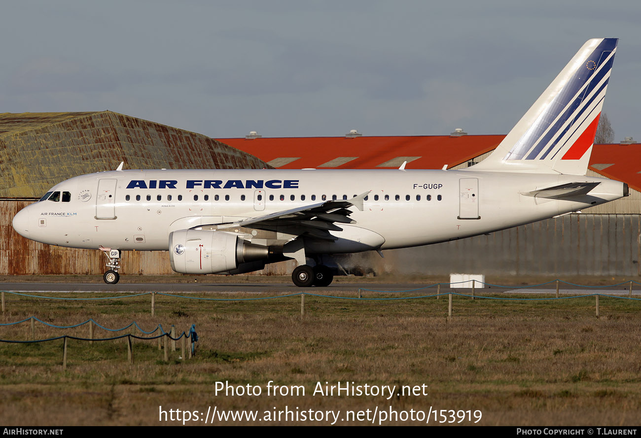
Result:
[[[272,214],[250,217],[234,223],[219,224],[217,228],[224,230],[242,226],[272,231],[276,230],[276,228],[288,228],[290,232],[296,234],[307,234],[323,240],[337,240],[337,237],[329,232],[342,231],[343,229],[335,225],[335,223],[356,223],[356,221],[348,217],[352,212],[347,210],[347,207],[355,206],[358,210],[363,210],[363,199],[368,194],[369,191],[351,199],[325,201]]]

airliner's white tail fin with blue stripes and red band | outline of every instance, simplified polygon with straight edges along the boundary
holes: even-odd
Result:
[[[494,152],[470,170],[585,175],[618,41],[583,44]]]

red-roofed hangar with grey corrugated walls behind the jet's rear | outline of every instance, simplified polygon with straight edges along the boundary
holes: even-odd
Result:
[[[492,152],[504,135],[219,139],[278,169],[461,169]],[[628,198],[501,232],[418,248],[385,251],[385,259],[356,256],[378,271],[549,276],[641,275],[641,144],[594,145],[589,176],[624,181]],[[426,218],[429,220],[429,218]],[[400,226],[400,225],[399,225]]]

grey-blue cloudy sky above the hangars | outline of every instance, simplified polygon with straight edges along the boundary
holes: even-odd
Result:
[[[589,38],[641,140],[637,0],[6,1],[0,112],[111,110],[213,138],[506,134]]]

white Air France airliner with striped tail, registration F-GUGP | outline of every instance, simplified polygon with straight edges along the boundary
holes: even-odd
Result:
[[[464,170],[124,170],[76,176],[13,218],[22,236],[104,251],[169,251],[178,273],[240,274],[293,259],[328,286],[331,255],[463,239],[628,196],[585,176],[617,38],[588,40],[494,152]]]

